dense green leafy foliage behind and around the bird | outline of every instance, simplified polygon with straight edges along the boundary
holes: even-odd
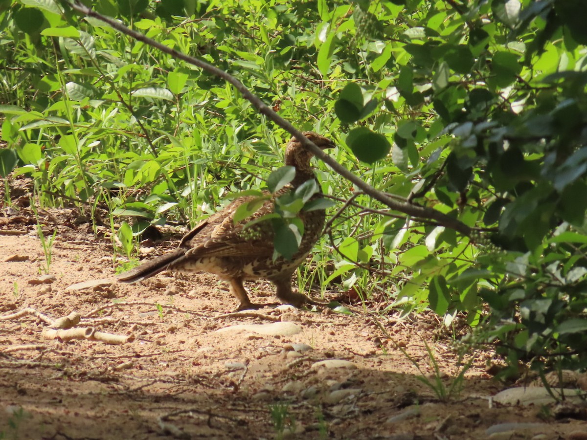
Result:
[[[583,2],[87,4],[335,138],[373,187],[473,228],[391,211],[319,164],[340,200],[314,253],[322,286],[342,277],[447,325],[465,312],[512,365],[587,367]],[[66,2],[4,0],[0,21],[0,173],[31,175],[43,204],[194,222],[281,163],[289,136],[221,79]]]

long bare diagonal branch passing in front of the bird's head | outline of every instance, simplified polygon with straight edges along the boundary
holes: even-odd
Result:
[[[75,9],[77,12],[81,12],[87,16],[99,19],[104,23],[112,26],[112,28],[120,31],[126,35],[131,36],[132,38],[145,43],[146,45],[152,46],[161,52],[167,53],[171,55],[175,59],[180,59],[194,65],[196,67],[200,67],[204,69],[206,72],[211,73],[212,75],[221,77],[226,82],[232,84],[239,92],[241,92],[242,97],[247,99],[253,106],[259,111],[259,113],[264,114],[270,120],[274,121],[279,127],[283,128],[284,130],[288,131],[292,136],[294,136],[298,141],[302,143],[304,147],[306,147],[309,151],[311,151],[316,157],[321,159],[324,163],[330,165],[334,171],[338,172],[338,174],[342,175],[346,180],[349,180],[353,184],[356,185],[357,188],[360,188],[365,194],[369,195],[370,197],[382,202],[383,204],[387,205],[388,207],[403,212],[404,214],[411,215],[417,219],[433,219],[438,222],[438,224],[445,226],[446,228],[454,229],[466,235],[468,237],[474,232],[474,229],[470,226],[465,225],[463,222],[458,221],[456,218],[452,218],[446,214],[443,214],[440,211],[437,211],[433,208],[427,207],[420,207],[417,205],[410,204],[406,201],[406,198],[396,196],[393,194],[386,194],[385,192],[379,191],[378,189],[372,187],[371,185],[367,184],[367,182],[363,181],[360,177],[353,174],[345,167],[340,165],[336,160],[330,157],[328,154],[324,153],[320,148],[318,148],[314,143],[312,143],[308,138],[303,136],[302,132],[299,131],[296,127],[294,127],[291,123],[283,119],[279,116],[275,111],[271,109],[271,107],[267,106],[261,99],[257,96],[252,94],[244,84],[242,84],[238,79],[236,79],[232,75],[228,75],[228,73],[224,72],[224,70],[218,69],[218,67],[212,66],[203,60],[194,58],[193,56],[185,55],[185,53],[178,52],[175,49],[168,48],[167,46],[148,38],[147,36],[143,35],[140,32],[133,31],[122,23],[103,16],[93,9],[88,8],[87,6],[80,4],[80,3],[70,3],[67,0],[63,1],[65,4],[69,5],[71,8]]]

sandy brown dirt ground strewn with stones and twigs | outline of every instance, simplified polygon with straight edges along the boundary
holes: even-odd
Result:
[[[96,236],[75,209],[39,212],[45,237],[57,231],[44,276],[31,209],[1,212],[0,438],[587,438],[584,419],[556,417],[554,404],[492,402],[507,385],[485,373],[491,353],[451,391],[471,359],[432,315],[278,307],[266,283],[248,285],[264,308],[231,313],[213,276],[116,283],[107,229]],[[72,312],[82,339],[50,331]],[[225,330],[238,324],[255,327]],[[528,425],[495,428],[508,422]]]

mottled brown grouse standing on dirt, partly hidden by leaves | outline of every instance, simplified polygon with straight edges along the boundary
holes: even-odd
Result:
[[[303,134],[320,148],[334,147],[328,138],[312,131],[305,131]],[[275,197],[298,188],[308,180],[316,180],[310,164],[312,157],[311,151],[306,150],[295,137],[292,138],[285,150],[285,165],[295,168],[295,178],[265,201],[254,214],[234,222],[237,208],[255,199],[255,196],[239,197],[195,226],[181,239],[175,251],[123,273],[119,276],[119,281],[135,283],[168,269],[178,272],[215,273],[221,280],[230,284],[232,295],[240,301],[238,310],[245,310],[254,308],[254,305],[242,285],[243,280],[262,278],[275,285],[276,296],[282,303],[294,306],[301,306],[305,302],[312,303],[302,293],[292,291],[292,275],[321,235],[325,211],[315,209],[299,212],[299,219],[303,223],[303,235],[298,251],[289,260],[282,256],[274,259],[275,233],[271,221],[260,221],[252,226],[249,224],[274,212]],[[321,197],[321,192],[316,193],[313,198]],[[265,192],[265,195],[268,194]],[[244,228],[246,224],[249,226]]]

